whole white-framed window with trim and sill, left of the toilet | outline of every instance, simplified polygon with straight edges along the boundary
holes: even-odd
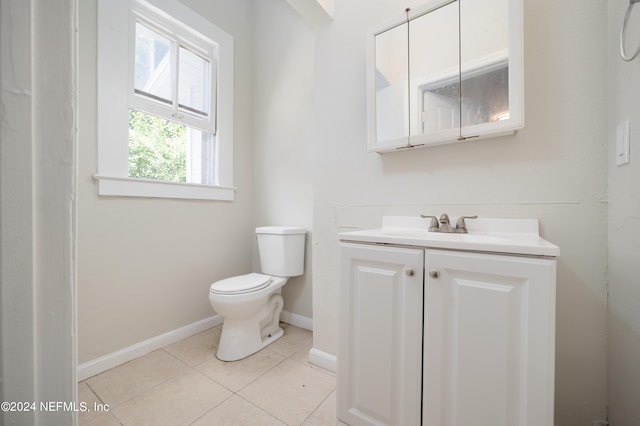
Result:
[[[98,193],[233,200],[231,36],[171,0],[98,21]]]

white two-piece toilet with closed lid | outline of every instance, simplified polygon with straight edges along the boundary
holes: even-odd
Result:
[[[224,319],[218,359],[236,361],[282,337],[280,290],[289,277],[304,272],[305,235],[306,230],[291,226],[256,228],[262,274],[211,284],[209,302]]]

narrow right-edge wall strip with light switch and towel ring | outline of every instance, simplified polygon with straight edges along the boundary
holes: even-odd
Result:
[[[640,424],[640,58],[623,62],[619,34],[628,1],[608,2],[609,309],[608,390],[611,426]],[[627,51],[640,40],[640,5],[628,26]],[[631,125],[631,163],[615,165],[616,127]]]

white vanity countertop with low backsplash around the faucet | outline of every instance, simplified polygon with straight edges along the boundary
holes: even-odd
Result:
[[[452,217],[455,227],[457,218]],[[467,219],[468,234],[429,232],[429,219],[385,216],[382,227],[342,232],[340,241],[396,244],[530,256],[560,256],[560,248],[540,238],[537,219]]]

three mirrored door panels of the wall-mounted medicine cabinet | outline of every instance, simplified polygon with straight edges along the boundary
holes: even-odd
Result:
[[[508,2],[445,0],[375,35],[378,142],[455,140],[509,118]]]

